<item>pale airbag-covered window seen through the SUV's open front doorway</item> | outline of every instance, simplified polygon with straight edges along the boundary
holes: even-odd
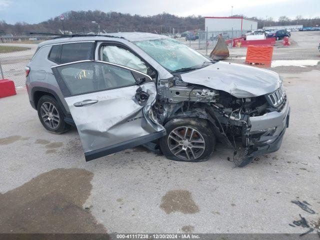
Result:
[[[123,47],[102,45],[100,48],[100,58],[102,61],[117,63],[147,73],[146,64],[139,57]]]

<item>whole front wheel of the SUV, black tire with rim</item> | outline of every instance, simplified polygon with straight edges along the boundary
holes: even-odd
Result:
[[[162,153],[171,160],[205,161],[214,150],[215,136],[201,118],[172,119],[164,125],[167,135],[160,138]]]

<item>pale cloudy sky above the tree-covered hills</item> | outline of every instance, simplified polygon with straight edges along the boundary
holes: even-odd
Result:
[[[233,6],[233,8],[231,7]],[[320,0],[0,0],[0,20],[6,23],[38,23],[69,10],[101,10],[154,15],[229,16],[261,18],[320,16]]]

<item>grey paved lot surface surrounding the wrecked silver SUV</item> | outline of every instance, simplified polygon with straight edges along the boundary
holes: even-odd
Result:
[[[273,59],[319,59],[320,32],[292,32]],[[243,62],[245,48],[231,49]],[[217,144],[205,162],[142,147],[85,162],[75,128],[47,132],[25,89],[0,98],[0,232],[301,233],[320,220],[320,67],[272,68],[291,106],[281,148],[234,167]],[[291,200],[306,200],[316,212]]]

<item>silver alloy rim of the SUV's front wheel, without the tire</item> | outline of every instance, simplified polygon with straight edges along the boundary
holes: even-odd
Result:
[[[203,136],[190,126],[174,128],[168,135],[167,144],[172,154],[182,160],[196,159],[205,149]]]

